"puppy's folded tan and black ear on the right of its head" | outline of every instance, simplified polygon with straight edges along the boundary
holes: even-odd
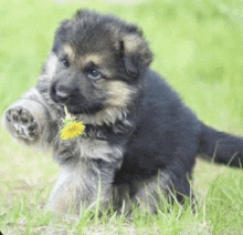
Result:
[[[125,34],[119,42],[119,51],[129,75],[137,76],[152,61],[152,53],[139,32]]]

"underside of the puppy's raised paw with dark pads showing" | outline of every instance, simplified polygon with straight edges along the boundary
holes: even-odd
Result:
[[[13,106],[6,112],[6,126],[17,139],[25,143],[39,139],[39,125],[31,112],[22,106]]]

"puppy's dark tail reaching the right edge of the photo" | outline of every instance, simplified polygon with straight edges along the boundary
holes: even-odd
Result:
[[[202,125],[201,157],[230,166],[243,167],[243,139]]]

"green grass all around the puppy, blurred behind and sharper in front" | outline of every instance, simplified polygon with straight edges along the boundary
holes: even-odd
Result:
[[[0,8],[0,113],[36,83],[59,22],[77,8],[110,12],[138,23],[149,41],[152,69],[181,94],[207,124],[243,132],[243,2],[241,0],[103,1],[56,3],[20,0]],[[157,216],[136,212],[134,221],[116,214],[78,222],[44,214],[57,177],[51,155],[14,143],[0,129],[0,231],[3,234],[242,234],[243,174],[240,170],[198,162],[193,215],[175,205]],[[97,216],[94,216],[97,218]]]

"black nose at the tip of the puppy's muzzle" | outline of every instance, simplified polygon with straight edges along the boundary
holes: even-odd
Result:
[[[66,103],[71,96],[70,89],[56,84],[52,85],[50,93],[51,93],[51,98],[55,102],[61,102],[61,103]]]

